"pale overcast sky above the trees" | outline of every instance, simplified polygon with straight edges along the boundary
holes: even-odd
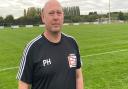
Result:
[[[12,14],[15,18],[23,16],[28,7],[43,7],[47,0],[0,0],[0,16]],[[89,11],[105,13],[108,11],[109,0],[59,0],[62,6],[80,6],[81,14]],[[112,11],[127,11],[128,0],[111,0]]]

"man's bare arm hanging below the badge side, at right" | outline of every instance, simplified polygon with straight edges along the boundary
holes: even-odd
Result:
[[[76,89],[84,89],[82,70],[76,70]]]

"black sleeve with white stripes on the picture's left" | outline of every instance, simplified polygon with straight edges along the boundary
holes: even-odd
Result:
[[[32,51],[31,51],[31,45],[28,44],[24,49],[19,66],[19,71],[17,73],[16,78],[20,81],[31,84],[32,70],[33,70]]]

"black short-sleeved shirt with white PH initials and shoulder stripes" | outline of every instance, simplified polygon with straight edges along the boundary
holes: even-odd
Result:
[[[24,49],[17,79],[31,84],[31,89],[76,89],[76,69],[81,67],[76,41],[61,35],[52,43],[39,35]]]

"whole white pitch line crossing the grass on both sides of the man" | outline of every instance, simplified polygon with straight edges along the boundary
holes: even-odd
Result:
[[[90,54],[90,55],[81,56],[81,57],[84,58],[84,57],[91,57],[91,56],[104,55],[104,54],[112,54],[112,53],[125,52],[125,51],[128,51],[128,49],[117,50],[117,51],[110,51],[110,52],[104,52],[104,53]],[[3,69],[0,69],[0,72],[7,71],[7,70],[13,70],[13,69],[17,69],[17,68],[18,68],[18,66],[16,66],[16,67],[9,67],[9,68],[3,68]]]

